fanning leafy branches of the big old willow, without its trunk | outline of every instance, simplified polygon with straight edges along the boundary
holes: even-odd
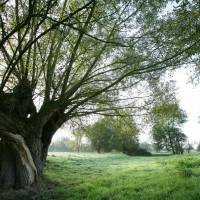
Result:
[[[159,40],[166,37],[158,18],[166,4],[5,1],[0,90],[12,91],[28,79],[34,99],[41,99],[38,109],[54,102],[54,109],[64,112],[63,121],[110,109],[111,102],[119,101],[119,89],[174,66],[183,57],[186,49],[169,49],[167,41]],[[160,21],[159,31],[147,27],[147,22],[155,25],[155,19]]]

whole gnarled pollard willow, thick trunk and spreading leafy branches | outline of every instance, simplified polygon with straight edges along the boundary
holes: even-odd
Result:
[[[63,123],[121,109],[118,91],[187,57],[195,42],[163,50],[166,3],[0,1],[1,187],[34,185]]]

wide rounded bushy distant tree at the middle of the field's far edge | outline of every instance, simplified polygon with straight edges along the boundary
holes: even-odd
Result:
[[[84,131],[97,152],[126,153],[138,148],[139,130],[132,117],[103,117]]]

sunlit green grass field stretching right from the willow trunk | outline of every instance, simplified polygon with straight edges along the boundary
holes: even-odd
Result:
[[[199,200],[200,155],[50,154],[42,200]]]

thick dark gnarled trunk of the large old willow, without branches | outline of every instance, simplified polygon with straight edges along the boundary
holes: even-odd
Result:
[[[0,188],[31,187],[37,184],[51,139],[64,122],[62,110],[57,102],[50,102],[32,115],[34,104],[29,98],[20,97],[29,101],[26,105],[23,101],[23,107],[12,94],[0,97],[4,100],[0,106]]]

